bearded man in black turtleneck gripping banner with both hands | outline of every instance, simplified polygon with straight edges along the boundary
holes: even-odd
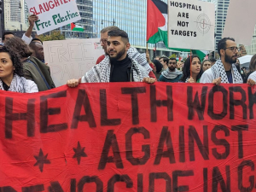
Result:
[[[67,81],[69,87],[75,87],[79,83],[103,83],[103,82],[146,82],[154,83],[155,79],[148,78],[147,70],[127,54],[130,49],[128,35],[125,31],[117,29],[108,32],[107,53],[105,59],[81,79]]]

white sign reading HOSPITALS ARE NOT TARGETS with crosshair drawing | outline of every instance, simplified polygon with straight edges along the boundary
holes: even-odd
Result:
[[[214,50],[215,6],[196,0],[168,1],[168,46]]]

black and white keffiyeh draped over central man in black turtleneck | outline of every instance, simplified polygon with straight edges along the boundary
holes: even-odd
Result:
[[[130,57],[131,59],[131,72],[133,75],[133,79],[135,82],[143,81],[143,78],[148,78],[147,70],[139,65],[136,60]],[[102,60],[98,65],[92,67],[89,72],[85,73],[82,77],[82,83],[108,83],[110,79],[110,70],[111,63],[109,56],[105,56],[104,60]]]

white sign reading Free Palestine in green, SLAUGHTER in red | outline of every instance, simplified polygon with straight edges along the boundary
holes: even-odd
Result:
[[[38,15],[35,28],[38,35],[81,20],[74,0],[26,0],[30,14]]]

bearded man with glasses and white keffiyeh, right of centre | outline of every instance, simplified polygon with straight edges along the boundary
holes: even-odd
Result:
[[[221,39],[218,42],[220,59],[202,74],[200,83],[242,84],[241,74],[235,66],[238,51],[234,38]]]

